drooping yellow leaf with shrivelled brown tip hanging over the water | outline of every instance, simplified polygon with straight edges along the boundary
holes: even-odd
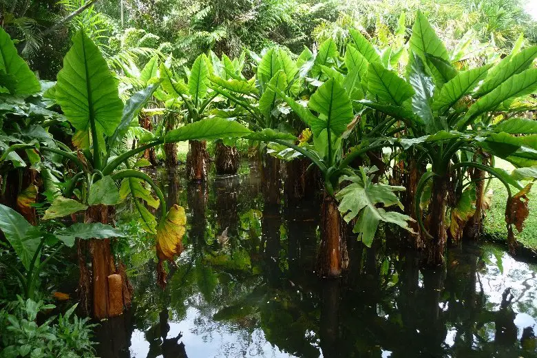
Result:
[[[175,204],[171,207],[156,229],[156,252],[158,256],[158,284],[166,285],[166,272],[163,262],[172,260],[182,253],[182,237],[187,231],[187,214],[185,209]]]

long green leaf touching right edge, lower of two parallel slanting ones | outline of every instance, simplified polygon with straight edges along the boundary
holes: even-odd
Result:
[[[531,68],[507,78],[501,85],[478,99],[468,109],[461,125],[489,111],[494,111],[503,101],[533,93],[537,89],[537,68]]]

